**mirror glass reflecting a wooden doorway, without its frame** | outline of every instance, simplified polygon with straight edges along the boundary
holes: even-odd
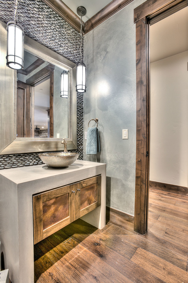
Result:
[[[24,50],[24,69],[17,70],[17,137],[68,138],[69,95],[60,97],[64,71]]]

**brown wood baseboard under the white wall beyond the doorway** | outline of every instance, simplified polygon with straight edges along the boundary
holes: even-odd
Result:
[[[188,188],[187,187],[181,187],[171,184],[165,184],[155,181],[150,181],[150,189],[156,189],[160,191],[165,191],[169,193],[179,194],[182,196],[188,196]]]

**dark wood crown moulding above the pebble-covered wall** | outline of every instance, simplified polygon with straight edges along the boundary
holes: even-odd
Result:
[[[77,31],[80,32],[80,18],[61,0],[42,0],[52,10],[54,10],[60,17],[70,23]],[[84,22],[82,22],[82,29],[84,30]]]

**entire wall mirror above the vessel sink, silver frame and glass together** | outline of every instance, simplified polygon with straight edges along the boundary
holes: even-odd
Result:
[[[25,36],[24,70],[17,74],[4,59],[5,28],[0,22],[0,154],[63,150],[63,138],[68,150],[76,149],[76,64]],[[68,98],[60,97],[64,70]]]

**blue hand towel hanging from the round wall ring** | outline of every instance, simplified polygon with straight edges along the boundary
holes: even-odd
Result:
[[[99,138],[99,130],[98,128],[88,128],[87,130],[87,142],[86,142],[86,154],[97,154],[97,146],[98,152],[101,151],[101,144]]]

